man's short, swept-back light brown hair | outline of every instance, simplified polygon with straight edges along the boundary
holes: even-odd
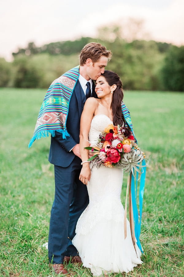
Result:
[[[83,66],[86,60],[90,58],[93,63],[97,62],[101,56],[105,56],[110,60],[112,58],[112,52],[107,50],[105,46],[100,43],[90,42],[86,44],[79,55],[80,65]]]

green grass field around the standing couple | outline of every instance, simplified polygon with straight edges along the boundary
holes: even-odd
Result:
[[[45,90],[0,89],[0,276],[54,276],[48,269],[50,210],[54,197],[50,138],[28,149]],[[143,264],[128,274],[108,276],[182,277],[183,268],[183,109],[184,94],[128,92],[139,146],[149,160],[141,243]],[[126,177],[122,186],[125,203]],[[72,276],[91,276],[69,265]]]

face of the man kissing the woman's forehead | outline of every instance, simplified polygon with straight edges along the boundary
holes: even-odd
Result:
[[[101,56],[97,62],[91,62],[88,66],[88,76],[90,79],[96,81],[96,79],[104,73],[105,66],[107,66],[108,58],[105,56]]]

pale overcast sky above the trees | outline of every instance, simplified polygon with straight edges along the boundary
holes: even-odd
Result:
[[[0,9],[0,56],[28,42],[97,38],[97,28],[127,18],[144,19],[144,30],[157,41],[184,45],[184,0],[3,0]]]

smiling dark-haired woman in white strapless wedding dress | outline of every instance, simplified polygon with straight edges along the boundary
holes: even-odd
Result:
[[[121,204],[123,170],[116,167],[93,167],[84,147],[95,146],[99,133],[109,124],[125,125],[122,113],[123,89],[119,76],[109,70],[98,77],[95,87],[98,98],[88,98],[84,105],[80,126],[82,170],[79,179],[87,185],[89,205],[80,216],[72,243],[79,251],[84,267],[94,276],[103,272],[128,272],[141,264],[141,251],[134,249],[130,225],[124,238],[124,208]]]

